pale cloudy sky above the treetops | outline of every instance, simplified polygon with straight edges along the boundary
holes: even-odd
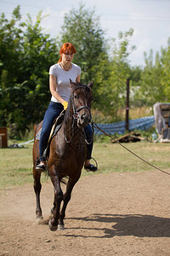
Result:
[[[144,52],[154,56],[161,47],[167,48],[170,38],[170,0],[0,0],[0,13],[10,19],[14,8],[20,5],[23,20],[31,15],[32,20],[40,10],[48,15],[41,26],[51,37],[56,37],[64,25],[64,16],[71,9],[78,9],[84,3],[86,9],[95,9],[99,16],[99,26],[105,31],[105,38],[117,38],[118,32],[127,32],[133,28],[130,44],[136,50],[128,57],[132,66],[144,67]]]

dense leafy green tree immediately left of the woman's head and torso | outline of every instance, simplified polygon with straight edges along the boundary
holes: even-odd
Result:
[[[48,69],[59,59],[57,42],[43,32],[40,26],[41,20],[41,12],[37,15],[35,24],[28,15],[24,32],[22,56],[24,65],[20,67],[20,73],[26,90],[23,108],[28,123],[37,122],[43,118],[50,101]],[[28,102],[29,109],[27,109]]]

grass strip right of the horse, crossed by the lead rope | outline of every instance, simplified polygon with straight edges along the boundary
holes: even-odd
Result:
[[[123,145],[158,168],[170,167],[169,144],[140,142]],[[94,144],[94,155],[99,160],[99,172],[144,172],[153,169],[117,143]]]

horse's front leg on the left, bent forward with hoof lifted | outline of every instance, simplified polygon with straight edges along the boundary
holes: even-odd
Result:
[[[49,229],[55,231],[59,224],[59,210],[61,201],[63,201],[63,192],[60,187],[60,181],[57,174],[51,176],[51,181],[54,184],[54,208],[53,217],[49,219]]]

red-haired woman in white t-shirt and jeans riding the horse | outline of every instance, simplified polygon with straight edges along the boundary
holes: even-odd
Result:
[[[42,155],[45,148],[47,148],[48,137],[53,126],[54,119],[59,116],[59,113],[61,113],[63,109],[66,110],[68,107],[68,101],[71,96],[70,79],[73,82],[80,82],[81,68],[71,62],[75,54],[76,49],[73,44],[63,44],[59,50],[59,62],[49,68],[49,89],[52,97],[43,119],[41,137],[39,141],[40,163],[37,165],[36,170],[40,172],[46,171],[46,160]],[[91,126],[88,125],[84,131],[90,141],[93,136]],[[84,168],[87,171],[95,172],[97,171],[97,167],[90,164],[93,143],[87,145],[87,148],[88,154]]]

